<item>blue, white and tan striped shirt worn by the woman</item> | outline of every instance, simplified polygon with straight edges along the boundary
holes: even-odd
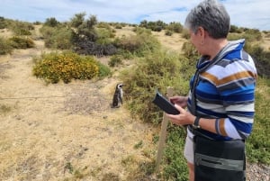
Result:
[[[216,140],[245,140],[252,131],[257,69],[253,59],[243,50],[244,44],[245,40],[229,41],[225,56],[200,74],[195,88],[196,114],[217,119],[218,134],[202,132]],[[203,68],[209,62],[201,59],[197,68]],[[190,91],[189,111],[191,99]]]

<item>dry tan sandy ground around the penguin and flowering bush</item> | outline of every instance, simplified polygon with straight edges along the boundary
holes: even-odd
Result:
[[[148,159],[153,131],[110,107],[116,78],[46,86],[33,77],[35,43],[0,57],[0,180],[125,180],[123,160]]]

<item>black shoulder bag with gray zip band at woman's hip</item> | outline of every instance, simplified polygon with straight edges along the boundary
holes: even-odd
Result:
[[[194,136],[195,181],[245,181],[244,140],[211,140]]]

